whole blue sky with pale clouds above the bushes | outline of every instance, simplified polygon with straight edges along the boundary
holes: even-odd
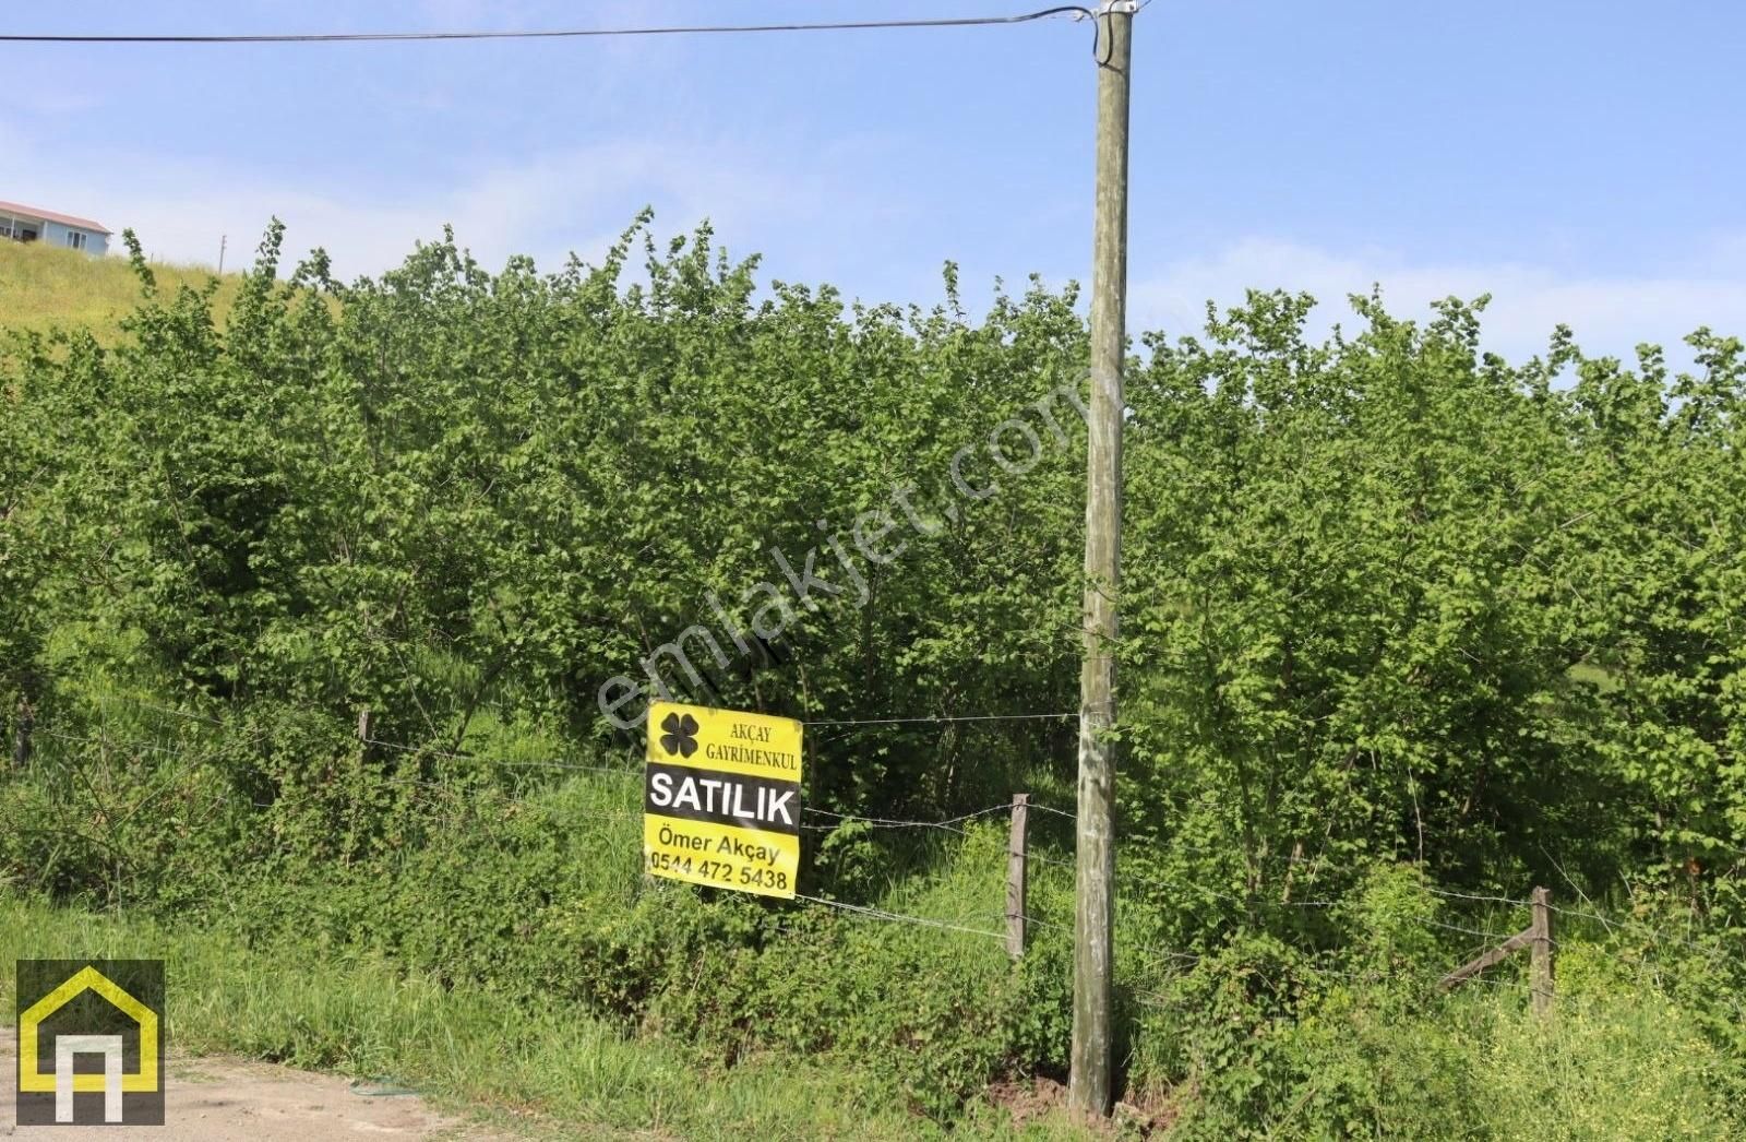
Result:
[[[347,31],[1000,14],[1030,0],[61,0],[24,31]],[[1746,5],[1156,0],[1137,21],[1135,328],[1308,288],[1325,320],[1491,292],[1512,356],[1746,334]],[[875,300],[1083,278],[1091,40],[964,31],[244,47],[0,45],[0,199],[232,264],[271,215],[344,272],[452,222],[487,264],[643,204]]]

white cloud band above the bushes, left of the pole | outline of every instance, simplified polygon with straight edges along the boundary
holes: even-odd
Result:
[[[7,140],[24,147],[23,140]],[[31,176],[10,196],[51,210],[131,227],[150,257],[213,264],[229,237],[237,267],[271,217],[286,224],[286,255],[323,246],[342,276],[396,265],[414,243],[454,225],[456,239],[484,264],[531,253],[555,267],[569,251],[597,257],[644,204],[662,232],[702,218],[721,234],[749,239],[854,201],[831,169],[765,159],[744,147],[684,140],[618,140],[485,166],[456,187],[414,194],[349,194],[332,176],[272,183],[206,159],[112,155],[101,169],[28,155]]]

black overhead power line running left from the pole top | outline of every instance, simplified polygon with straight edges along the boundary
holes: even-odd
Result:
[[[594,37],[719,35],[756,31],[873,31],[904,28],[992,28],[1027,24],[1053,16],[1088,19],[1095,10],[1077,3],[1018,16],[959,16],[938,19],[866,19],[800,24],[690,24],[662,28],[548,28],[534,31],[321,31],[258,35],[0,35],[5,44],[379,44],[417,40],[578,40]]]

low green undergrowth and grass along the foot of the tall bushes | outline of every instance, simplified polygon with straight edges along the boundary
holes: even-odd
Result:
[[[850,821],[815,840],[812,892],[946,927],[707,898],[639,877],[636,770],[557,775],[540,765],[553,742],[487,716],[468,749],[505,765],[450,758],[372,854],[313,861],[285,840],[346,826],[335,791],[370,801],[402,788],[386,784],[400,768],[342,767],[262,810],[201,760],[239,732],[124,686],[87,697],[100,744],[152,753],[44,737],[24,779],[0,779],[0,959],[168,959],[183,1051],[386,1076],[534,1114],[543,1133],[1069,1132],[1046,1098],[1023,1126],[992,1104],[1063,1077],[1072,866],[1049,821],[1013,964],[993,938],[997,814],[953,831]],[[241,814],[230,840],[225,814]],[[51,889],[61,906],[38,903]],[[1175,1139],[1746,1137],[1746,1025],[1718,976],[1730,945],[1561,917],[1542,1025],[1521,957],[1435,994],[1470,932],[1524,922],[1512,905],[1444,908],[1416,870],[1379,866],[1337,908],[1297,910],[1325,925],[1322,950],[1233,925],[1189,953],[1156,903],[1124,892],[1124,1097]]]

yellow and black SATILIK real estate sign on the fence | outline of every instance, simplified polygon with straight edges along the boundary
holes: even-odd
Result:
[[[800,871],[800,723],[650,705],[643,868],[793,899]]]

